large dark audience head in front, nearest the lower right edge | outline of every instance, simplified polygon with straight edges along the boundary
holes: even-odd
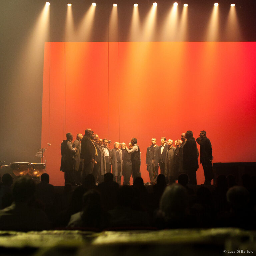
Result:
[[[234,186],[227,192],[227,201],[233,211],[246,210],[250,201],[250,193],[241,186]]]

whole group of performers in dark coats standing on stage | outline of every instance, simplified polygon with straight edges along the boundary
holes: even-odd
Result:
[[[77,134],[73,142],[72,133],[66,134],[67,139],[61,143],[61,168],[64,172],[65,184],[80,185],[86,181],[86,176],[92,174],[96,183],[103,181],[104,174],[111,172],[114,181],[121,185],[130,185],[130,177],[133,181],[140,177],[140,148],[137,139],[132,138],[126,144],[115,142],[114,148],[109,149],[109,140],[101,139],[91,129],[86,129],[85,134]],[[192,131],[181,134],[181,139],[174,142],[161,137],[161,145],[156,144],[156,138],[152,138],[151,146],[147,148],[146,166],[149,172],[150,183],[157,182],[159,167],[160,173],[166,178],[167,184],[175,183],[178,175],[186,173],[189,184],[197,184],[196,171],[198,169],[199,152],[196,142],[200,145],[200,163],[202,163],[205,175],[204,184],[211,184],[213,179],[212,146],[206,137],[206,131],[200,132],[196,140]],[[111,168],[112,167],[112,168]]]

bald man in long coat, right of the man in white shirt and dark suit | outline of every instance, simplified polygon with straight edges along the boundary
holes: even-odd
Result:
[[[173,140],[168,140],[167,145],[168,149],[166,151],[164,176],[167,184],[171,185],[172,183],[175,183],[175,180],[178,178],[177,175],[174,173],[175,147],[173,146]]]

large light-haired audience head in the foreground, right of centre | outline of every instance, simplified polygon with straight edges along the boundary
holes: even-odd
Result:
[[[188,196],[186,189],[179,184],[167,186],[160,200],[160,210],[166,221],[186,214]]]

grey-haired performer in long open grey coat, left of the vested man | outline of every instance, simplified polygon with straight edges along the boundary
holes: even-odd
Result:
[[[123,157],[122,150],[119,149],[119,142],[114,143],[114,148],[112,151],[112,173],[114,175],[114,181],[121,185],[121,177],[123,175]]]

